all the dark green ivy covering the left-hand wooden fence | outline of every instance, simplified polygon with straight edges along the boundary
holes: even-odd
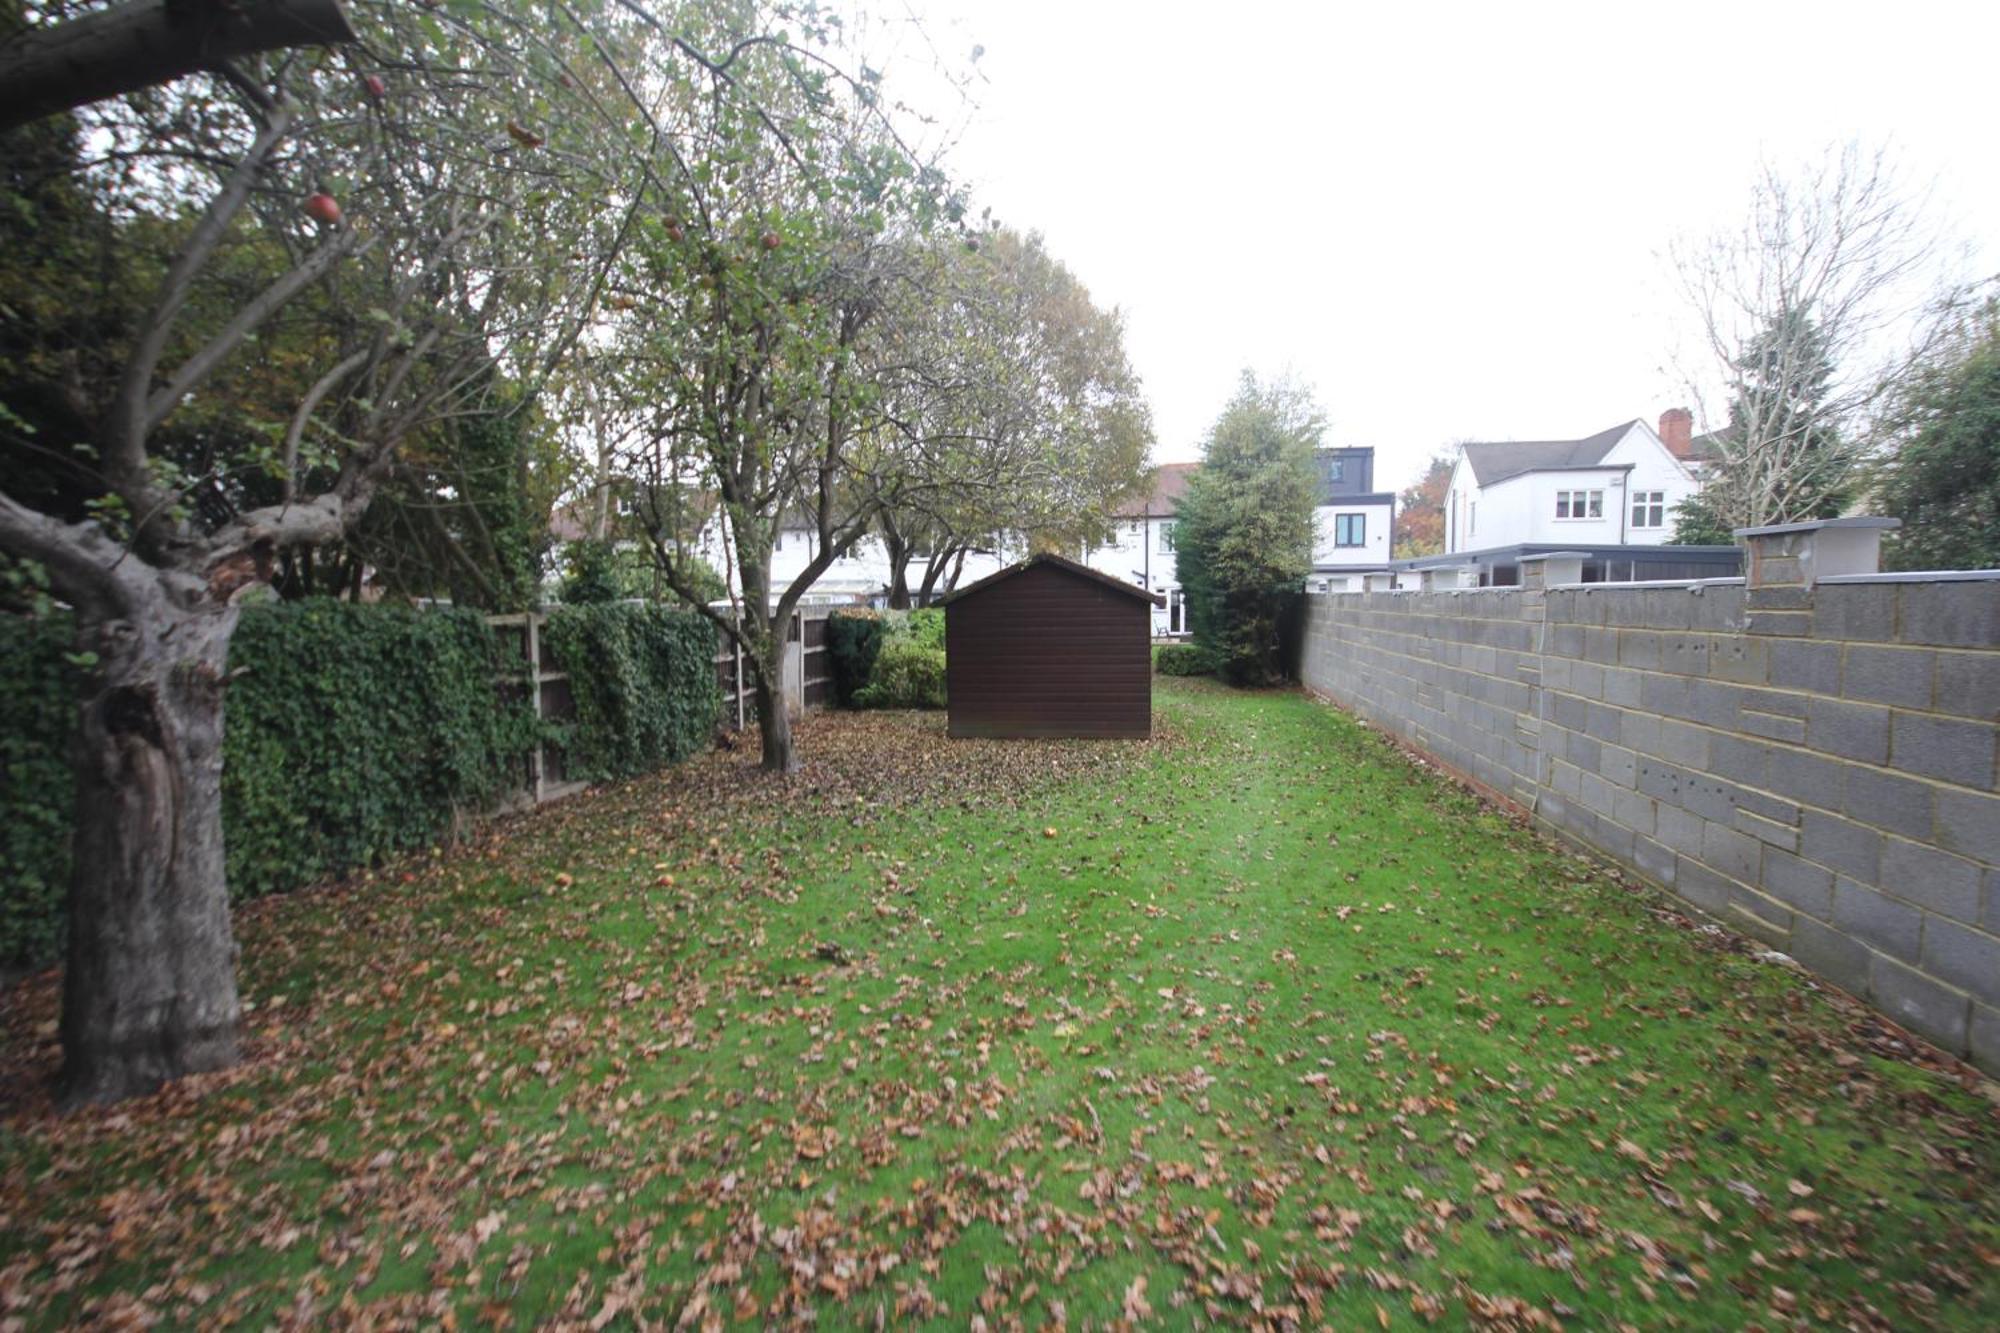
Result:
[[[574,719],[540,717],[486,616],[332,600],[244,610],[222,741],[230,895],[296,889],[428,847],[528,787],[656,769],[716,721],[714,630],[646,604],[548,616]],[[76,666],[64,616],[0,616],[0,969],[60,955]]]

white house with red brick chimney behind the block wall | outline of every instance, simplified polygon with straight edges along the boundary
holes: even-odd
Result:
[[[1628,420],[1580,440],[1466,444],[1446,490],[1444,550],[1666,544],[1674,506],[1702,488],[1690,426],[1690,412],[1672,408],[1658,432]]]

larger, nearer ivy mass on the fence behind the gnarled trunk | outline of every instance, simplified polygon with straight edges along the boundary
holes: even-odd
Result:
[[[70,620],[0,628],[0,963],[48,963],[70,883]],[[472,610],[332,600],[244,610],[222,739],[230,897],[296,889],[426,847],[498,797],[536,737],[494,689]]]

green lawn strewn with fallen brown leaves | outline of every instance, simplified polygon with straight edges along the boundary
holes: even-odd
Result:
[[[54,1119],[0,1325],[2000,1323],[1962,1069],[1298,695],[828,717],[248,909],[250,1063]]]

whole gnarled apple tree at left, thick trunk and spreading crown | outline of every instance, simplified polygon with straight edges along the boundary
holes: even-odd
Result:
[[[0,404],[22,454],[60,460],[30,490],[10,458],[0,548],[46,570],[88,662],[72,1101],[236,1059],[220,741],[242,598],[280,552],[344,536],[410,440],[532,400],[662,162],[702,168],[708,144],[660,150],[680,108],[790,132],[728,68],[784,44],[750,4],[710,22],[718,54],[636,2],[346,10],[354,44],[210,60],[78,112],[96,262],[140,294],[88,354],[30,356],[36,402],[62,410]]]

